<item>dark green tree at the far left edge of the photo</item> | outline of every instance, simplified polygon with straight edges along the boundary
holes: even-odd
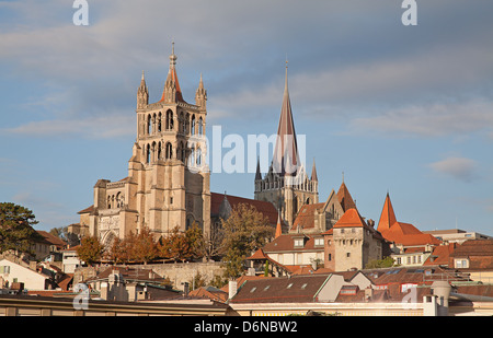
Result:
[[[0,203],[0,253],[15,250],[16,253],[32,254],[31,246],[43,240],[33,225],[35,220],[33,211],[12,202]]]

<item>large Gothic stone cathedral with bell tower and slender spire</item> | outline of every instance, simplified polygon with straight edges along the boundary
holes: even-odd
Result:
[[[319,203],[318,175],[313,161],[311,175],[300,162],[288,90],[285,89],[277,138],[268,172],[263,177],[257,163],[254,199],[210,191],[210,172],[204,159],[206,148],[207,91],[202,75],[195,103],[184,100],[176,71],[174,44],[160,100],[149,102],[145,74],[137,89],[137,136],[128,160],[128,176],[117,180],[99,179],[93,187],[93,205],[79,211],[79,233],[96,235],[107,247],[115,237],[147,228],[158,238],[174,228],[185,231],[198,225],[204,235],[220,226],[234,205],[249,203],[262,212],[282,233],[309,231],[296,221],[300,211],[313,206],[320,211],[316,230],[330,229],[352,201],[341,187],[325,203]],[[347,198],[348,196],[348,198]],[[346,206],[343,199],[346,198]],[[305,210],[306,211],[306,210]]]

